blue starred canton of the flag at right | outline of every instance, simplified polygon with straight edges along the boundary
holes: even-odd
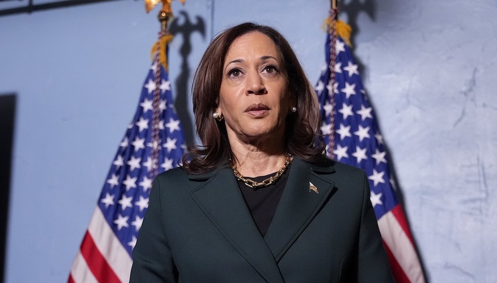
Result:
[[[371,189],[370,200],[379,219],[398,204],[393,189],[395,184],[390,178],[386,147],[350,48],[337,37],[334,87],[330,84],[329,35],[325,49],[328,67],[321,73],[316,93],[321,108],[321,134],[327,144],[326,150],[335,160],[366,172]],[[334,93],[331,93],[332,89]],[[333,106],[331,95],[334,97]],[[331,139],[334,141],[332,148]]]

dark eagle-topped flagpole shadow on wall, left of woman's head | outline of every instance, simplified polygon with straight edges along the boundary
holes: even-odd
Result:
[[[183,44],[179,49],[181,56],[181,72],[176,79],[176,100],[175,108],[183,126],[183,133],[187,144],[195,141],[195,130],[192,128],[193,119],[188,107],[188,77],[191,74],[190,66],[188,66],[188,56],[191,54],[191,36],[195,32],[199,32],[202,38],[205,39],[205,21],[200,16],[196,16],[195,22],[190,21],[190,16],[186,11],[180,11],[179,15],[174,17],[174,20],[169,25],[169,31],[172,35],[180,34],[183,38]]]

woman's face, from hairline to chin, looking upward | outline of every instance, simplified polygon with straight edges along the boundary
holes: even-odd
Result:
[[[283,137],[286,116],[295,104],[283,68],[278,48],[266,35],[251,32],[233,41],[216,109],[224,115],[230,139]]]

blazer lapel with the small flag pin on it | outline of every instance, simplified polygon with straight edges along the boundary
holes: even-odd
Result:
[[[264,236],[276,262],[297,240],[333,191],[334,183],[314,171],[332,173],[334,169],[329,165],[315,166],[294,157],[285,190]]]

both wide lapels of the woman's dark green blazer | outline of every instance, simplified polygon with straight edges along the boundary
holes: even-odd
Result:
[[[277,262],[326,203],[334,184],[320,174],[333,172],[331,161],[309,163],[295,156],[264,238],[228,165],[188,178],[200,181],[190,195],[233,247],[267,282],[283,283]],[[318,193],[310,189],[310,183],[318,188]]]

